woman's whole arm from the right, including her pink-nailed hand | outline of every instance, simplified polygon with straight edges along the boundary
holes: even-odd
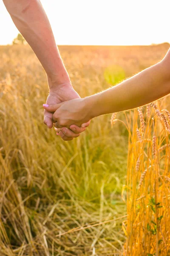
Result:
[[[57,121],[57,126],[69,127],[71,124],[80,126],[95,116],[146,105],[170,93],[169,63],[170,51],[158,64],[108,90],[44,108],[53,113],[55,111],[53,119]]]

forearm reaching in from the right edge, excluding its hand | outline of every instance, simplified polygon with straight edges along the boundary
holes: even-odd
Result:
[[[94,116],[137,108],[170,93],[170,75],[163,61],[122,83],[88,97]]]

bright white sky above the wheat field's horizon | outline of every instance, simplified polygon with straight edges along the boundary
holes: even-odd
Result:
[[[170,43],[169,0],[41,0],[57,44]],[[0,0],[0,44],[18,30]]]

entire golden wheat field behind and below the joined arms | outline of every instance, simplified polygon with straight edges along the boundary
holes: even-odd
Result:
[[[155,64],[168,48],[59,51],[84,97]],[[170,97],[99,116],[64,142],[43,124],[47,95],[31,48],[1,46],[0,256],[170,255]]]

